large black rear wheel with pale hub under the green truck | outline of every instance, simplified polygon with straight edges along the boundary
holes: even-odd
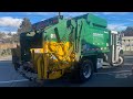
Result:
[[[89,80],[93,75],[93,64],[91,61],[85,59],[80,66],[80,81]]]

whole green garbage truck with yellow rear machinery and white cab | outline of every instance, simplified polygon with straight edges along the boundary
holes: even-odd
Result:
[[[30,80],[89,80],[103,66],[124,63],[121,36],[108,29],[108,21],[92,13],[65,19],[57,15],[32,24],[20,34],[20,45],[12,50],[12,63]]]

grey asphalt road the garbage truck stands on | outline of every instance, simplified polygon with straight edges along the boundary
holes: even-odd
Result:
[[[133,56],[125,56],[122,67],[101,68],[84,84],[71,84],[68,79],[45,80],[43,87],[133,87]],[[0,61],[0,87],[40,87],[20,76],[11,61]],[[42,86],[41,86],[42,87]]]

